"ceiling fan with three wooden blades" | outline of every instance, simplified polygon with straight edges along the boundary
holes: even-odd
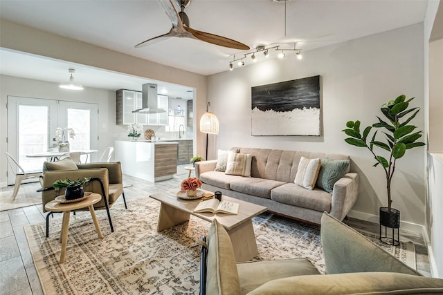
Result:
[[[233,39],[210,34],[208,32],[201,32],[199,30],[194,30],[190,28],[189,18],[188,15],[186,15],[186,13],[184,12],[184,10],[189,6],[191,0],[157,0],[157,1],[160,3],[163,10],[165,10],[166,12],[166,15],[168,15],[168,17],[172,21],[172,28],[167,34],[147,39],[146,41],[141,42],[141,44],[137,44],[136,46],[134,46],[135,48],[148,46],[150,44],[154,44],[164,39],[168,39],[169,37],[186,37],[228,48],[241,49],[241,50],[251,49],[249,48],[249,46],[242,44],[238,41],[235,41]],[[175,1],[175,3],[177,3],[177,6],[180,6],[181,8],[180,12],[177,12],[177,9],[175,8],[174,3],[172,1]]]

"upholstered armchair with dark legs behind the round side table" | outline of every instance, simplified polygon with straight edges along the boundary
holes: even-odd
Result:
[[[84,184],[84,191],[99,193],[102,196],[102,200],[94,204],[94,209],[107,210],[109,226],[111,227],[111,231],[114,232],[109,208],[120,196],[123,196],[125,209],[127,209],[120,162],[75,164],[70,158],[65,158],[57,162],[44,162],[42,189],[39,189],[39,191],[42,191],[42,206],[44,212],[46,212],[44,208],[45,204],[51,202],[57,196],[64,194],[65,191],[64,188],[54,189],[53,183],[66,178],[70,180],[91,178],[90,182]],[[80,210],[87,210],[87,208]],[[51,216],[51,212],[46,215],[46,236],[49,236],[49,216]]]

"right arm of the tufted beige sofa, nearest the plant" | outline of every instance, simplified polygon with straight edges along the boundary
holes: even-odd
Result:
[[[331,211],[329,214],[338,220],[343,220],[354,206],[359,196],[359,175],[346,173],[340,178],[332,189]]]

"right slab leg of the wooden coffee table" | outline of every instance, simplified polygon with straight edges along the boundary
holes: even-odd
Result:
[[[257,242],[255,241],[252,220],[244,222],[238,227],[228,231],[230,241],[233,244],[235,260],[237,262],[248,261],[258,254]]]

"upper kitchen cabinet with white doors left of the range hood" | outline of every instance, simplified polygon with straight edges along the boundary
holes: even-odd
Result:
[[[142,108],[141,91],[120,89],[117,91],[117,125],[140,123],[147,125],[146,113],[132,113],[137,108]]]

